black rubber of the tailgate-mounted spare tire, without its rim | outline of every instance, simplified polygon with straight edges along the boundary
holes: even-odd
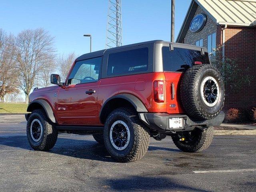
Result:
[[[217,81],[220,90],[218,102],[214,106],[207,106],[200,94],[201,83],[207,76],[213,77]],[[215,118],[222,110],[225,100],[224,82],[220,72],[210,64],[190,67],[182,76],[180,98],[184,110],[194,120]]]

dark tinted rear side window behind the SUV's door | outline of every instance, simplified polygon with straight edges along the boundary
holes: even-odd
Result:
[[[108,75],[148,70],[148,48],[140,48],[108,56]]]

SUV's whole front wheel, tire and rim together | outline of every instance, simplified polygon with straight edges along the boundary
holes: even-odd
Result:
[[[34,110],[27,122],[27,138],[34,150],[47,151],[54,147],[58,130],[46,116],[42,109]]]

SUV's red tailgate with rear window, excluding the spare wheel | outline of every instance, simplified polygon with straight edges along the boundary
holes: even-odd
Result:
[[[162,47],[163,70],[166,78],[166,112],[169,114],[184,113],[180,102],[180,81],[182,73],[196,64],[210,63],[208,53],[200,50],[174,47]]]

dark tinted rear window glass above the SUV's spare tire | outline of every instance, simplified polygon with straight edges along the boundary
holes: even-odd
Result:
[[[170,51],[169,47],[162,47],[163,69],[164,71],[183,72],[186,67],[191,67],[198,63],[210,63],[208,53],[201,55],[201,51],[176,48]]]

